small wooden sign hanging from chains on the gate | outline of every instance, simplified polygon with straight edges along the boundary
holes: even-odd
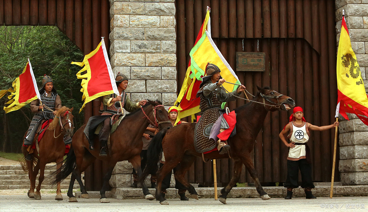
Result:
[[[243,72],[264,72],[265,52],[236,52],[236,70]]]

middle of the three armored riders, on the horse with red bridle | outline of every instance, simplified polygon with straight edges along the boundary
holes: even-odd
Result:
[[[120,95],[109,94],[103,96],[100,107],[101,115],[114,115],[120,113],[122,109],[119,101],[121,101],[121,106],[128,112],[133,112],[146,104],[147,100],[141,100],[134,104],[127,98],[127,94],[125,93],[125,89],[128,87],[127,76],[119,72],[116,75],[115,81]],[[110,123],[111,117],[106,118],[105,121],[103,121],[102,129],[99,133],[100,145],[102,146],[100,156],[107,156],[107,139],[109,139],[111,131]]]

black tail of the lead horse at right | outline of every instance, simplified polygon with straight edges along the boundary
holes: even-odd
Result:
[[[162,153],[162,139],[166,135],[167,130],[162,130],[153,136],[151,144],[147,149],[147,161],[146,167],[143,170],[139,183],[144,183],[149,174],[155,174],[158,171],[158,163],[161,159]]]

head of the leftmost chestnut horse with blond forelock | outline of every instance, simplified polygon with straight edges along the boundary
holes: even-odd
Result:
[[[68,136],[73,136],[74,131],[74,124],[73,124],[73,111],[74,108],[67,108],[67,107],[61,107],[61,108],[55,108],[56,115],[55,118],[58,117],[59,124],[61,127],[61,131],[64,131]]]

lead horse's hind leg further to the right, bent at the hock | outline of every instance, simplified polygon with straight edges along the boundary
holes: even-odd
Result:
[[[191,198],[198,199],[198,193],[195,188],[188,183],[187,180],[184,178],[184,174],[190,169],[193,162],[195,161],[195,156],[190,154],[184,154],[183,159],[180,161],[180,167],[175,172],[174,177],[185,187],[187,187],[189,193],[191,194]]]

